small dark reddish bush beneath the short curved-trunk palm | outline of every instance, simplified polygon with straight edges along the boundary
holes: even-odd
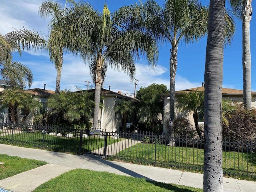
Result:
[[[195,133],[196,130],[187,118],[176,118],[174,120],[174,136],[193,137]]]

